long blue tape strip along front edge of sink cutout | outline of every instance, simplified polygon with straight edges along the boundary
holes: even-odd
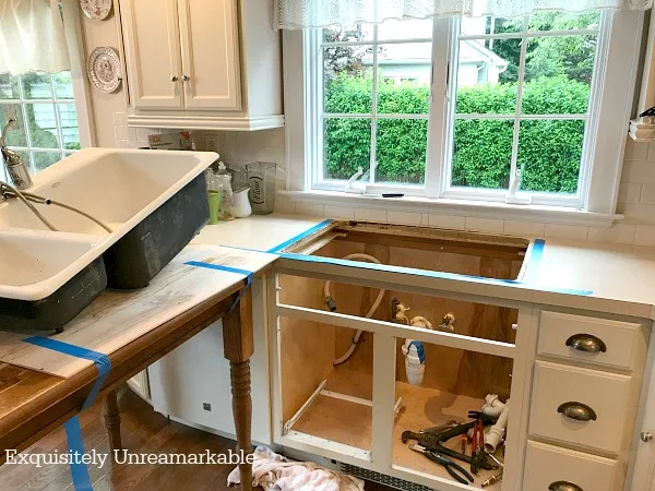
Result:
[[[460,275],[455,273],[444,273],[438,271],[427,271],[427,270],[416,270],[413,267],[404,267],[404,266],[392,266],[389,264],[376,264],[368,263],[364,261],[348,261],[348,260],[340,260],[335,258],[321,258],[317,255],[303,255],[303,254],[295,254],[289,252],[279,253],[281,258],[290,259],[294,261],[302,261],[307,263],[322,263],[322,264],[333,264],[336,266],[347,266],[355,267],[359,270],[372,270],[372,271],[388,271],[391,273],[401,273],[413,276],[425,276],[428,278],[440,278],[440,279],[462,279],[466,278],[469,282],[478,283],[483,285],[503,285],[515,288],[526,288],[526,289],[535,289],[543,291],[551,291],[556,294],[568,294],[568,295],[582,295],[587,296],[592,295],[591,290],[575,290],[575,289],[564,289],[564,288],[549,288],[549,287],[540,287],[540,286],[531,286],[529,284],[525,284],[519,279],[498,279],[498,278],[485,278],[481,276],[473,276],[473,275]]]

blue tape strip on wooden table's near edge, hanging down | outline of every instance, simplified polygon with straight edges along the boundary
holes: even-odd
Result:
[[[100,388],[105,384],[107,375],[111,371],[111,361],[109,361],[107,355],[49,337],[33,336],[23,339],[23,342],[35,346],[40,346],[41,348],[51,349],[53,351],[63,352],[75,358],[84,358],[85,360],[93,361],[98,371],[98,376],[91,387],[91,392],[88,393],[88,396],[86,396],[86,400],[84,400],[80,411],[83,411],[93,404],[98,395],[98,392],[100,392]],[[69,453],[73,455],[73,460],[71,460],[70,464],[71,475],[73,477],[73,486],[75,487],[76,491],[93,491],[88,468],[86,467],[86,464],[79,460],[79,458],[84,454],[80,418],[78,416],[73,416],[63,424],[63,428],[66,430],[66,438],[68,440]],[[74,458],[75,456],[78,456],[78,458]]]

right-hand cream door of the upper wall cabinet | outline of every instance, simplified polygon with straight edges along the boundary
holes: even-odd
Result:
[[[240,109],[236,0],[178,0],[188,109]]]

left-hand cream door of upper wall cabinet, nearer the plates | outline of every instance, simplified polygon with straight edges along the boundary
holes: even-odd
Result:
[[[121,0],[128,80],[135,109],[181,109],[177,0]]]

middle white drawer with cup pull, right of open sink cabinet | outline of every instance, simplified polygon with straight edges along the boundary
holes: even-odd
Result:
[[[632,428],[632,378],[547,361],[535,363],[529,433],[619,454]],[[567,403],[595,419],[564,416]]]

